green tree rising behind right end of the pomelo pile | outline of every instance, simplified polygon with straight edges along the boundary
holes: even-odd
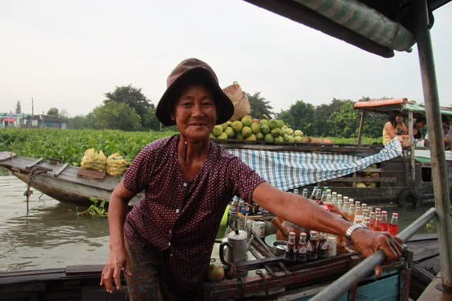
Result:
[[[292,129],[301,129],[306,136],[316,136],[316,107],[303,100],[297,100],[289,110],[281,111],[278,119],[283,119]]]

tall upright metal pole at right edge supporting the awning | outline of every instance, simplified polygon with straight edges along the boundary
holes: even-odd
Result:
[[[436,86],[432,40],[427,28],[429,23],[427,0],[413,1],[415,36],[424,90],[425,113],[429,131],[430,155],[432,157],[432,181],[435,195],[439,253],[442,285],[452,291],[452,220],[449,199],[444,134],[441,126],[438,88]]]

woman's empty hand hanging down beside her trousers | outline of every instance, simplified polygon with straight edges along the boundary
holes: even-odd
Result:
[[[127,276],[132,276],[130,258],[126,247],[112,249],[100,278],[100,285],[105,285],[108,293],[112,293],[114,286],[118,290],[121,288],[121,269],[123,266]]]

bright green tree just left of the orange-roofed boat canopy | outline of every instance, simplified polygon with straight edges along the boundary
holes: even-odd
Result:
[[[331,136],[356,137],[359,129],[359,112],[353,110],[352,102],[345,102],[340,110],[330,116]]]

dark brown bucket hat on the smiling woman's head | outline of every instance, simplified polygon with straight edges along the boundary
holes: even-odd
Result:
[[[163,93],[158,102],[155,116],[166,126],[176,124],[171,119],[172,103],[176,101],[182,83],[189,78],[197,78],[201,83],[205,83],[213,93],[217,106],[218,118],[216,124],[224,124],[234,114],[234,105],[229,97],[223,92],[218,84],[218,78],[208,64],[200,59],[185,59],[169,74],[167,78],[167,90]]]

